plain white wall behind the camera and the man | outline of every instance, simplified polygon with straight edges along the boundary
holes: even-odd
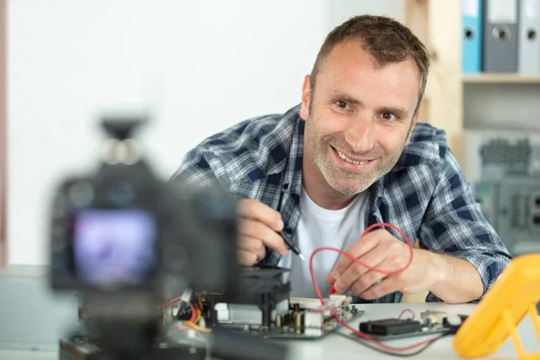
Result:
[[[142,134],[168,177],[185,152],[247,117],[300,102],[326,33],[400,0],[8,2],[8,261],[46,264],[49,197],[90,171],[110,110],[148,109]]]

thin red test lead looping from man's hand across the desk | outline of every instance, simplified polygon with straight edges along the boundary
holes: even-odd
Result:
[[[365,266],[365,267],[367,267],[368,269],[370,269],[370,270],[372,270],[374,272],[382,273],[382,274],[385,274],[385,275],[400,274],[402,271],[406,270],[410,266],[410,264],[412,263],[412,257],[413,257],[413,254],[414,254],[413,247],[412,247],[412,242],[410,241],[410,238],[401,229],[397,228],[396,226],[394,226],[392,224],[388,224],[386,222],[376,223],[376,224],[370,226],[369,228],[365,229],[365,231],[362,233],[360,238],[364,237],[365,234],[370,232],[372,229],[379,228],[379,227],[387,227],[387,228],[390,228],[390,229],[394,229],[394,230],[398,231],[398,233],[400,233],[401,237],[403,237],[405,239],[405,241],[407,242],[407,245],[409,246],[409,250],[410,250],[410,258],[409,258],[409,261],[407,262],[407,264],[405,266],[403,266],[402,268],[397,269],[397,270],[392,270],[392,271],[382,270],[382,269],[379,269],[379,268],[376,268],[376,267],[373,267],[373,266],[368,266],[367,264],[361,262],[356,257],[353,257],[351,254],[347,253],[346,251],[343,251],[343,250],[338,249],[336,247],[319,247],[319,248],[315,249],[315,251],[313,251],[313,253],[311,254],[310,273],[311,273],[311,281],[313,283],[313,287],[315,288],[315,293],[317,293],[317,296],[319,297],[320,303],[322,305],[326,305],[326,302],[324,301],[324,298],[320,294],[319,285],[317,284],[317,280],[315,279],[315,272],[313,271],[313,258],[320,251],[323,251],[323,250],[336,251],[339,254],[341,254],[341,255],[349,258],[350,260],[356,262],[356,264],[358,264],[360,266]],[[417,348],[417,347],[421,347],[423,345],[428,346],[428,345],[430,345],[431,343],[435,342],[438,339],[438,338],[430,338],[428,340],[421,341],[421,342],[419,342],[417,344],[410,345],[409,347],[390,347],[390,346],[388,346],[386,344],[383,344],[382,342],[368,336],[367,334],[365,334],[365,333],[363,333],[361,331],[353,329],[345,321],[339,319],[337,316],[334,317],[334,318],[335,318],[336,321],[338,321],[339,324],[341,324],[343,327],[353,331],[360,338],[364,338],[365,340],[367,340],[367,341],[373,343],[374,345],[376,345],[377,347],[371,346],[375,350],[379,350],[381,352],[384,352],[383,350],[390,350],[389,352],[384,352],[385,354],[395,355],[395,354],[397,354],[397,352],[411,350],[411,349],[414,349],[414,348]],[[442,338],[442,337],[439,337],[439,338]],[[362,342],[362,343],[364,345],[367,345],[364,342]]]

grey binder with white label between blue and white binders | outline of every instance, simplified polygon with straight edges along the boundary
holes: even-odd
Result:
[[[482,69],[488,73],[518,72],[518,0],[486,0]]]

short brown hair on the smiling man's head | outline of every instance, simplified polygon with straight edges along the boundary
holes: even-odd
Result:
[[[426,46],[409,28],[386,16],[355,16],[329,33],[311,70],[311,96],[315,89],[317,73],[324,60],[338,43],[345,40],[360,40],[362,49],[373,56],[379,66],[410,58],[414,60],[420,73],[419,103],[414,111],[416,114],[426,90],[431,57]]]

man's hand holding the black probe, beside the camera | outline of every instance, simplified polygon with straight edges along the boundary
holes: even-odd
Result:
[[[253,266],[266,256],[270,247],[282,256],[289,251],[276,231],[284,229],[281,214],[266,203],[252,199],[238,202],[238,263]]]

